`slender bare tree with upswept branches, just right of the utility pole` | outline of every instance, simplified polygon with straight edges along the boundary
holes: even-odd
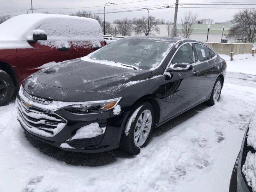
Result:
[[[196,20],[198,18],[198,14],[192,14],[192,12],[186,12],[181,18],[182,22],[182,36],[184,38],[189,38],[193,32],[193,26],[196,23]]]

